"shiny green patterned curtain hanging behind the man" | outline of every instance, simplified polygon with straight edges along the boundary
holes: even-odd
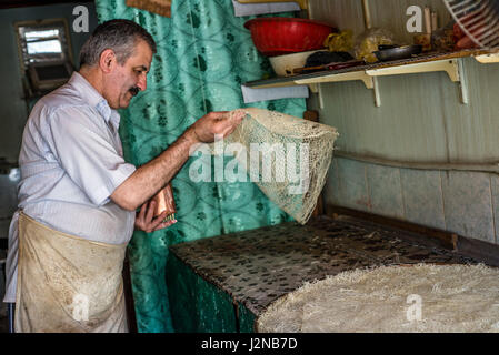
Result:
[[[231,0],[173,0],[171,18],[128,8],[124,0],[97,0],[96,8],[99,22],[133,20],[158,44],[148,89],[120,112],[124,155],[137,166],[210,111],[257,106],[301,116],[306,110],[305,99],[244,105],[240,84],[272,70],[243,27],[250,18],[236,18]],[[136,232],[129,244],[139,332],[174,332],[164,278],[170,245],[291,220],[251,182],[193,183],[194,159],[172,181],[178,223],[151,234]]]

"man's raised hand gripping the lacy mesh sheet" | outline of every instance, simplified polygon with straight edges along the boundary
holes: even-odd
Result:
[[[196,140],[200,143],[211,143],[214,135],[224,138],[232,133],[244,118],[244,111],[238,111],[229,119],[229,111],[210,112],[190,126]]]

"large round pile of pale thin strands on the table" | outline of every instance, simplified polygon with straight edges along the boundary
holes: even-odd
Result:
[[[381,266],[307,283],[273,302],[259,332],[499,332],[499,270]]]

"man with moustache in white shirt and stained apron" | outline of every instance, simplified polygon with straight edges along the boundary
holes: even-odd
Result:
[[[16,303],[17,332],[127,332],[121,270],[133,227],[174,223],[164,222],[166,212],[153,217],[150,199],[191,146],[230,134],[242,120],[211,112],[149,163],[126,163],[116,110],[146,90],[154,52],[140,26],[104,22],[82,47],[79,73],[30,114],[4,297]]]

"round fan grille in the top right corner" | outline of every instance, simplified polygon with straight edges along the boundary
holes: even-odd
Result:
[[[443,0],[462,31],[485,49],[499,47],[499,0]]]

